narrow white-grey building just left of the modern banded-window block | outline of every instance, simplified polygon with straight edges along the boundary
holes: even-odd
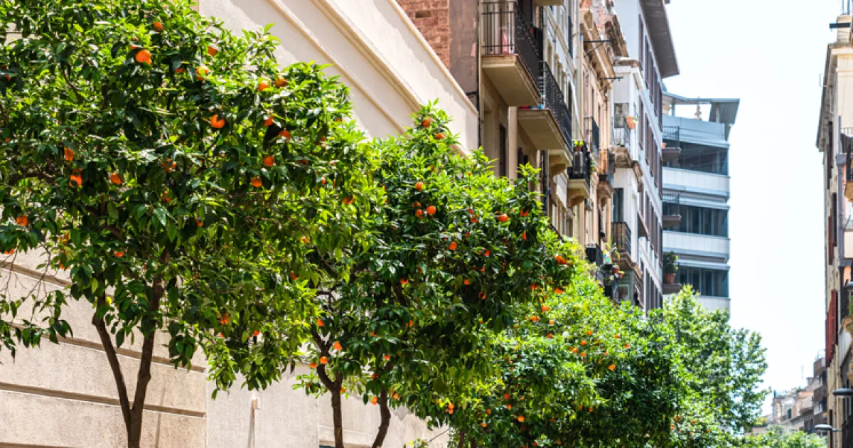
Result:
[[[612,243],[625,275],[618,296],[644,309],[663,301],[663,80],[679,73],[664,0],[617,0],[628,57],[613,79]]]

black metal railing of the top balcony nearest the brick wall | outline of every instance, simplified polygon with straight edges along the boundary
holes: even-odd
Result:
[[[518,3],[483,3],[483,30],[483,55],[518,55],[534,78],[542,51]]]

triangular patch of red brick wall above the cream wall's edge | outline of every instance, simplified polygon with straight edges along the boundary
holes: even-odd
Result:
[[[397,0],[432,50],[450,68],[450,0]]]

